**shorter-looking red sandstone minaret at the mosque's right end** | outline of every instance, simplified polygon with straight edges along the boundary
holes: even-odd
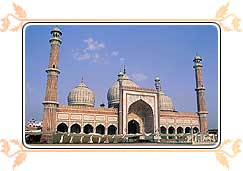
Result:
[[[202,58],[196,54],[194,57],[195,75],[196,75],[196,93],[197,93],[197,113],[199,115],[200,132],[205,134],[208,131],[207,109],[205,103],[205,88],[202,80]]]

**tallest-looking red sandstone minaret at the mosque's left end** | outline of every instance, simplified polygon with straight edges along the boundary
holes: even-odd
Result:
[[[59,63],[59,48],[62,43],[62,32],[58,27],[54,27],[51,31],[52,37],[49,42],[51,44],[49,65],[46,69],[47,84],[46,95],[43,101],[44,105],[44,118],[41,142],[51,143],[52,134],[56,130],[56,109],[57,102],[57,81],[60,70],[58,69]]]

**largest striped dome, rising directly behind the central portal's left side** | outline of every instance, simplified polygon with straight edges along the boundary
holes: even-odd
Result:
[[[111,88],[109,88],[107,93],[107,100],[108,100],[108,106],[109,107],[115,107],[117,104],[119,104],[119,80],[122,80],[123,86],[129,86],[129,87],[139,87],[135,82],[133,82],[131,79],[128,78],[126,74],[122,74],[119,72],[118,74],[118,80],[112,85]]]

